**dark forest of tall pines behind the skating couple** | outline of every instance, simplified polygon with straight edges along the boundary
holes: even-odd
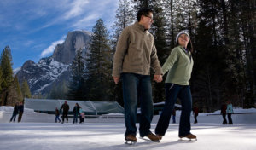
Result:
[[[123,105],[121,83],[115,85],[111,77],[113,54],[120,32],[136,21],[141,8],[154,11],[150,32],[160,65],[177,45],[177,32],[189,32],[195,61],[190,88],[193,104],[201,111],[213,112],[228,100],[238,107],[255,107],[253,0],[119,0],[113,32],[108,32],[102,19],[97,20],[86,53],[82,49],[76,52],[70,80],[61,84],[62,88],[53,88],[48,97]],[[61,94],[57,95],[56,89],[61,89]],[[164,82],[153,82],[154,102],[165,101],[164,93]]]

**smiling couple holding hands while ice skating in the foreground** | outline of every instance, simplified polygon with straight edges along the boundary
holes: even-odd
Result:
[[[141,102],[139,134],[151,141],[160,141],[165,136],[169,126],[172,109],[177,98],[182,103],[182,113],[178,136],[196,139],[190,133],[190,113],[192,96],[189,88],[194,61],[189,33],[181,31],[177,34],[177,47],[172,49],[165,64],[161,67],[154,46],[154,37],[148,32],[153,23],[153,11],[140,9],[137,12],[137,22],[125,27],[119,37],[113,58],[113,80],[115,84],[122,79],[125,107],[125,140],[137,141],[137,101]],[[155,128],[155,134],[150,131],[154,115],[150,68],[154,69],[154,81],[161,82],[168,72],[165,89],[166,103]]]

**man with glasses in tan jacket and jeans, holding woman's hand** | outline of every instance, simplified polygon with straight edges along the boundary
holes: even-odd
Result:
[[[137,21],[125,27],[119,37],[113,58],[113,80],[123,81],[123,97],[125,103],[125,140],[136,142],[137,101],[141,103],[139,133],[151,141],[159,138],[150,131],[153,118],[152,87],[150,67],[154,69],[154,81],[162,81],[162,70],[156,49],[154,37],[148,32],[153,23],[153,13],[150,9],[137,12]]]

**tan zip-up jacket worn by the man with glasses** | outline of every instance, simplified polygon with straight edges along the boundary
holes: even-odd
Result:
[[[156,75],[162,74],[153,35],[138,22],[125,27],[114,54],[112,76],[120,77],[122,72],[150,75],[151,66]]]

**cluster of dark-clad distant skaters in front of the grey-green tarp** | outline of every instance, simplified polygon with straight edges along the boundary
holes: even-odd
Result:
[[[62,111],[62,122],[60,119],[60,112]],[[61,122],[64,124],[64,120],[66,118],[66,121],[68,123],[68,111],[69,111],[69,105],[67,104],[67,101],[64,102],[64,104],[61,105],[61,109],[59,111],[58,107],[55,108],[55,123]],[[82,107],[79,106],[79,103],[76,103],[73,107],[73,124],[78,124],[78,117],[79,117],[79,123],[84,123],[84,111]]]

